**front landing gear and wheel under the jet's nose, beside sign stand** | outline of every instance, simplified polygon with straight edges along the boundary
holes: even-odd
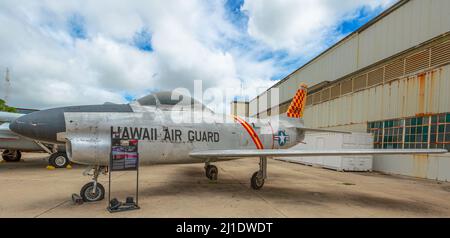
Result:
[[[93,170],[92,173],[90,171]],[[94,168],[89,168],[83,174],[93,176],[92,182],[85,184],[80,191],[80,196],[85,202],[97,202],[105,198],[105,188],[99,182],[97,182],[100,173],[106,174],[107,167],[105,166],[95,166]]]

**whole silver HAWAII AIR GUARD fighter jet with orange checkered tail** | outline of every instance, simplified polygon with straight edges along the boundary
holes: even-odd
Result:
[[[267,178],[267,158],[272,157],[447,152],[289,150],[304,140],[305,132],[328,131],[303,125],[301,117],[306,93],[306,86],[302,85],[286,115],[279,121],[275,117],[263,120],[237,116],[224,121],[227,117],[212,112],[188,96],[160,92],[129,104],[72,106],[33,112],[13,121],[10,129],[33,140],[65,144],[71,161],[91,165],[93,181],[80,191],[86,202],[104,198],[105,189],[97,178],[101,172],[107,172],[112,139],[138,141],[141,164],[203,163],[210,180],[216,180],[218,176],[215,162],[259,158],[259,170],[250,179],[255,190],[263,187]]]

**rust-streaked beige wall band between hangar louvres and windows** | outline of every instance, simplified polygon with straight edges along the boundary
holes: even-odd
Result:
[[[305,111],[305,124],[310,127],[367,126],[367,121],[450,112],[449,92],[450,65],[446,65],[309,106]]]

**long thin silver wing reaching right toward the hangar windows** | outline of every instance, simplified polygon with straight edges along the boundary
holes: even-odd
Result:
[[[303,157],[342,155],[407,155],[443,154],[444,149],[345,149],[345,150],[204,150],[193,151],[195,158],[240,158],[240,157]]]

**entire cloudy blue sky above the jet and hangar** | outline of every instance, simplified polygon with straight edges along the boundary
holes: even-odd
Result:
[[[252,98],[394,2],[2,0],[0,98],[124,103],[194,80]]]

